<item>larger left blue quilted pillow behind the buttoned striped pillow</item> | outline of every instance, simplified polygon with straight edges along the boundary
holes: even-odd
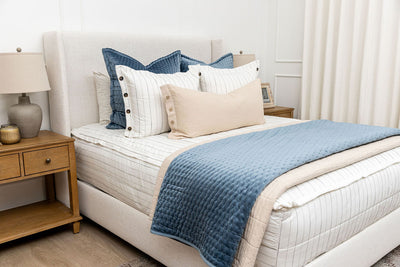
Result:
[[[161,57],[145,66],[136,59],[118,52],[111,48],[103,48],[103,57],[106,63],[107,72],[110,76],[110,105],[112,113],[107,129],[125,129],[125,105],[119,86],[116,65],[128,66],[135,70],[147,70],[153,73],[172,74],[180,71],[181,51],[177,50],[165,57]]]

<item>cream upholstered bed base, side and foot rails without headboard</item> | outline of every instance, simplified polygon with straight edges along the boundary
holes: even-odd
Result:
[[[167,266],[207,266],[180,242],[150,233],[149,217],[95,187],[78,181],[82,213]],[[371,266],[399,245],[400,208],[310,262],[308,267]]]

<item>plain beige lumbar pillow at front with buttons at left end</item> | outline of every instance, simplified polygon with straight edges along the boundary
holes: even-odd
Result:
[[[161,86],[171,132],[168,137],[196,137],[240,127],[263,124],[264,109],[259,79],[219,95]]]

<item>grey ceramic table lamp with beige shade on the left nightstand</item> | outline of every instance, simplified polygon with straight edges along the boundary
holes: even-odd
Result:
[[[27,93],[50,90],[46,66],[41,53],[0,53],[0,94],[18,94],[18,104],[8,110],[8,120],[16,124],[22,138],[39,134],[42,109],[32,104]]]

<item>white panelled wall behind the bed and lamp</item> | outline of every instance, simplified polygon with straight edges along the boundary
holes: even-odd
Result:
[[[0,52],[13,52],[18,46],[23,51],[40,52],[42,33],[51,30],[220,38],[233,53],[255,53],[261,60],[260,77],[271,83],[277,103],[292,106],[298,103],[300,89],[297,76],[301,71],[303,2],[0,0]],[[30,96],[43,109],[42,128],[49,129],[47,94]],[[0,95],[0,124],[7,122],[7,109],[16,102],[16,95]],[[29,190],[36,193],[30,194],[27,188],[24,183],[0,186],[0,210],[21,204],[22,197],[23,203],[43,198],[41,179],[30,182]]]

